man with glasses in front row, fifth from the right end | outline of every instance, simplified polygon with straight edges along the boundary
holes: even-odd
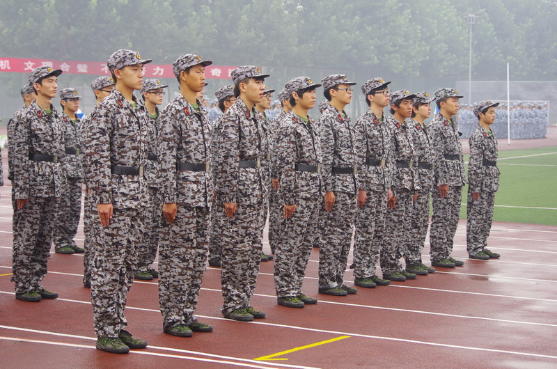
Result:
[[[368,79],[361,91],[366,96],[368,111],[356,120],[356,155],[358,155],[359,178],[364,182],[366,201],[356,215],[356,235],[354,237],[354,285],[375,288],[389,285],[391,281],[375,275],[375,265],[379,260],[381,237],[384,233],[384,219],[387,201],[391,199],[391,175],[386,167],[386,159],[391,157],[391,129],[387,127],[383,109],[389,105],[391,81],[381,77]],[[361,147],[361,148],[360,148]]]

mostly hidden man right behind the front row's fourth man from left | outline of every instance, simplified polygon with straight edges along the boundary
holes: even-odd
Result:
[[[292,110],[290,105],[290,93],[286,88],[283,88],[278,93],[278,100],[281,102],[281,112],[271,121],[271,135],[272,135],[272,149],[271,149],[271,187],[269,189],[269,246],[271,253],[274,254],[276,245],[282,241],[281,227],[283,223],[283,207],[280,196],[280,181],[276,173],[276,155],[274,153],[274,146],[276,145],[276,134],[279,131],[284,118]]]

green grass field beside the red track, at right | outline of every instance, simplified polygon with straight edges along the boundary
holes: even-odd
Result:
[[[497,166],[501,180],[494,221],[557,226],[557,146],[500,151]],[[467,192],[466,186],[462,203],[466,203]],[[460,217],[466,219],[466,205],[462,205]]]

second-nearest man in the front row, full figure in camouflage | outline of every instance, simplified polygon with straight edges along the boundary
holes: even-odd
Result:
[[[214,188],[211,163],[212,127],[196,94],[205,84],[205,67],[196,54],[173,63],[180,94],[159,117],[159,183],[164,224],[159,246],[159,305],[163,330],[178,337],[212,327],[196,320],[199,290],[209,246]]]

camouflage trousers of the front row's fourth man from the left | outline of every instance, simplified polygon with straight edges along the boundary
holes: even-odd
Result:
[[[277,297],[301,295],[321,205],[321,198],[300,198],[292,217],[284,219],[283,215],[283,237],[276,246],[274,258]]]

